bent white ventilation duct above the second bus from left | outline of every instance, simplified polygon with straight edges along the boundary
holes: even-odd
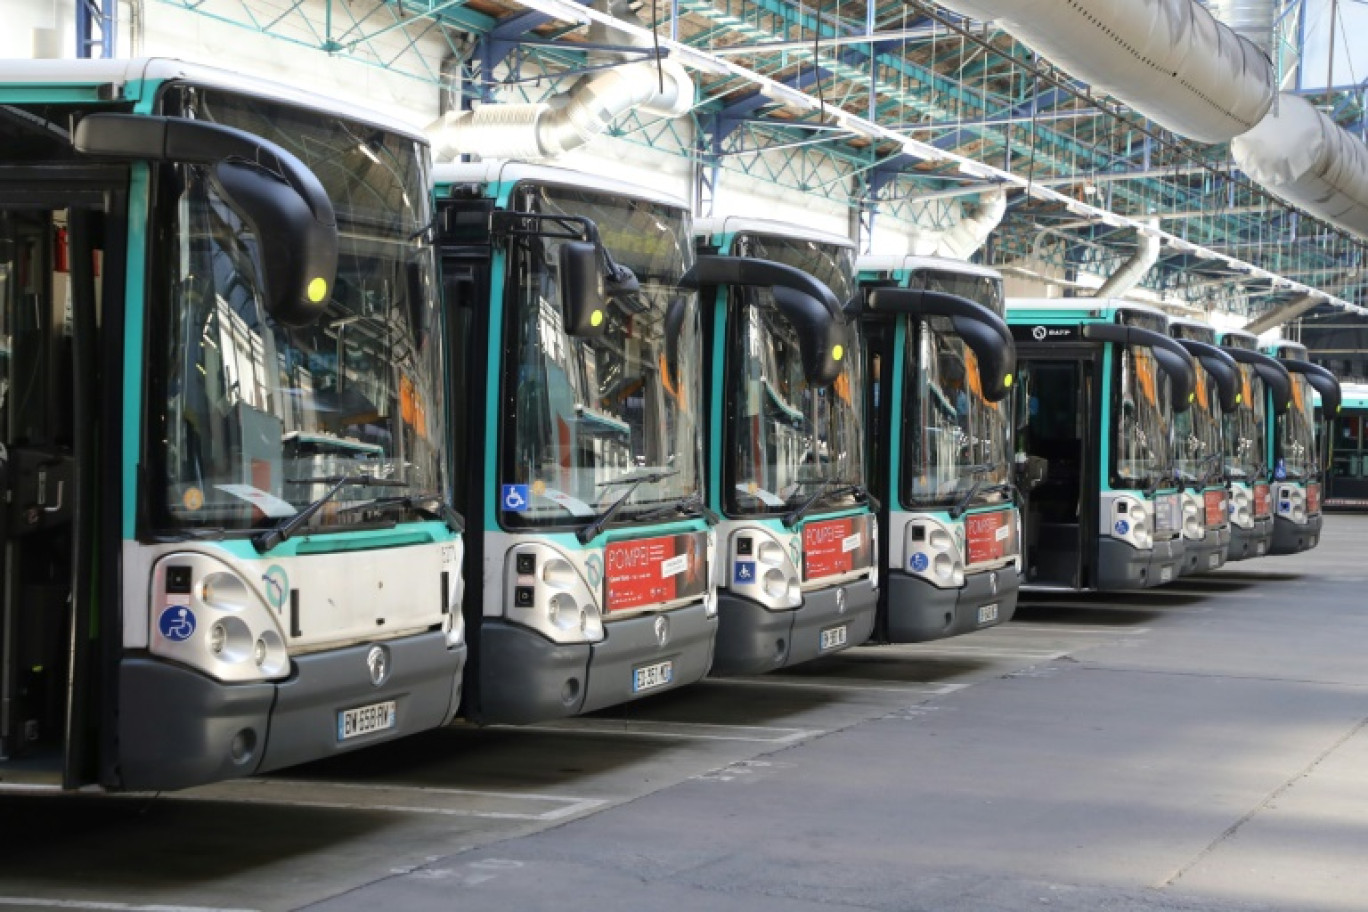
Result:
[[[595,0],[595,8],[602,0]],[[624,3],[607,12],[624,22],[636,22]],[[603,38],[617,44],[639,44],[627,33],[591,30],[595,44]],[[595,63],[607,63],[602,56]],[[677,60],[628,63],[581,77],[551,101],[532,104],[486,104],[475,111],[453,111],[427,127],[432,159],[449,161],[458,155],[482,159],[550,159],[602,135],[617,118],[642,109],[663,118],[677,118],[694,107],[694,81]]]

